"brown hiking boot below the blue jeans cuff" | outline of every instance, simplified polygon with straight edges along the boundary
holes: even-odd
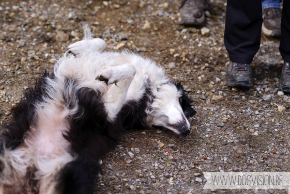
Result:
[[[282,10],[280,8],[263,9],[262,32],[267,36],[281,36],[281,17]]]

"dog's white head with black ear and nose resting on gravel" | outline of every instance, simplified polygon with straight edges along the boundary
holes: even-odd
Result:
[[[155,128],[169,129],[186,136],[190,132],[186,117],[196,113],[191,108],[192,102],[180,83],[168,82],[158,89],[150,106],[148,121]]]

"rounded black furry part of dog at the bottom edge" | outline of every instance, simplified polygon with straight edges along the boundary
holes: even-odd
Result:
[[[89,157],[67,163],[59,172],[56,190],[60,194],[93,194],[98,166]]]

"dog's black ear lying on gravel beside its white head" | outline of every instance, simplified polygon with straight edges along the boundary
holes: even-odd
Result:
[[[179,102],[182,107],[184,115],[186,117],[191,117],[195,115],[197,112],[193,108],[191,108],[190,105],[193,102],[193,100],[190,97],[188,97],[186,91],[183,89],[180,82],[175,83],[175,85],[179,91],[182,91],[182,97],[180,97]]]

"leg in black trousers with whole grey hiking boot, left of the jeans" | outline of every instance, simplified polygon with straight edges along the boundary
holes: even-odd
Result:
[[[260,47],[261,0],[228,0],[226,14],[224,41],[230,59],[227,85],[252,87],[249,64]]]

